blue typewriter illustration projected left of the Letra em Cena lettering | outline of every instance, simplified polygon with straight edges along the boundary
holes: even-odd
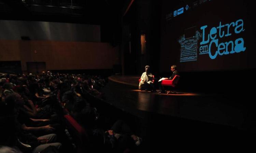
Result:
[[[180,62],[197,61],[197,42],[202,35],[195,30],[196,27],[188,28],[179,39],[181,44]]]

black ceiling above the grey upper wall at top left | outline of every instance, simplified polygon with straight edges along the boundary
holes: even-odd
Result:
[[[127,0],[0,0],[0,19],[106,24]]]

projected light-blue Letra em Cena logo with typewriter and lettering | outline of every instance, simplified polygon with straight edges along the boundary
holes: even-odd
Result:
[[[207,27],[207,25],[200,27],[202,34],[196,31],[196,27],[185,29],[185,34],[179,39],[181,44],[180,62],[197,61],[197,44],[200,38],[202,38],[202,41],[200,42],[199,55],[209,54],[212,60],[218,55],[222,56],[245,51],[246,47],[244,47],[243,38],[237,38],[234,41],[221,42],[222,39],[219,41],[219,38],[229,38],[232,34],[244,32],[242,19],[227,24],[219,22],[218,27],[212,27],[210,33],[205,35]]]

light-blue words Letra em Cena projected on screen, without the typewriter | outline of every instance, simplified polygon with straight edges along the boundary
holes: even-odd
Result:
[[[225,38],[232,34],[243,32],[245,29],[243,28],[242,19],[228,24],[219,22],[219,26],[212,27],[210,34],[205,36],[205,29],[207,27],[208,26],[205,25],[200,28],[202,30],[202,41],[200,42],[199,54],[209,54],[211,59],[215,59],[217,55],[222,56],[245,51],[246,47],[244,47],[243,38],[237,38],[234,41],[219,42],[219,38]]]

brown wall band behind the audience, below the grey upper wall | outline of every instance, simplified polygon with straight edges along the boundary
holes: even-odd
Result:
[[[47,70],[112,69],[119,48],[109,43],[72,41],[0,40],[0,61],[45,62]]]

